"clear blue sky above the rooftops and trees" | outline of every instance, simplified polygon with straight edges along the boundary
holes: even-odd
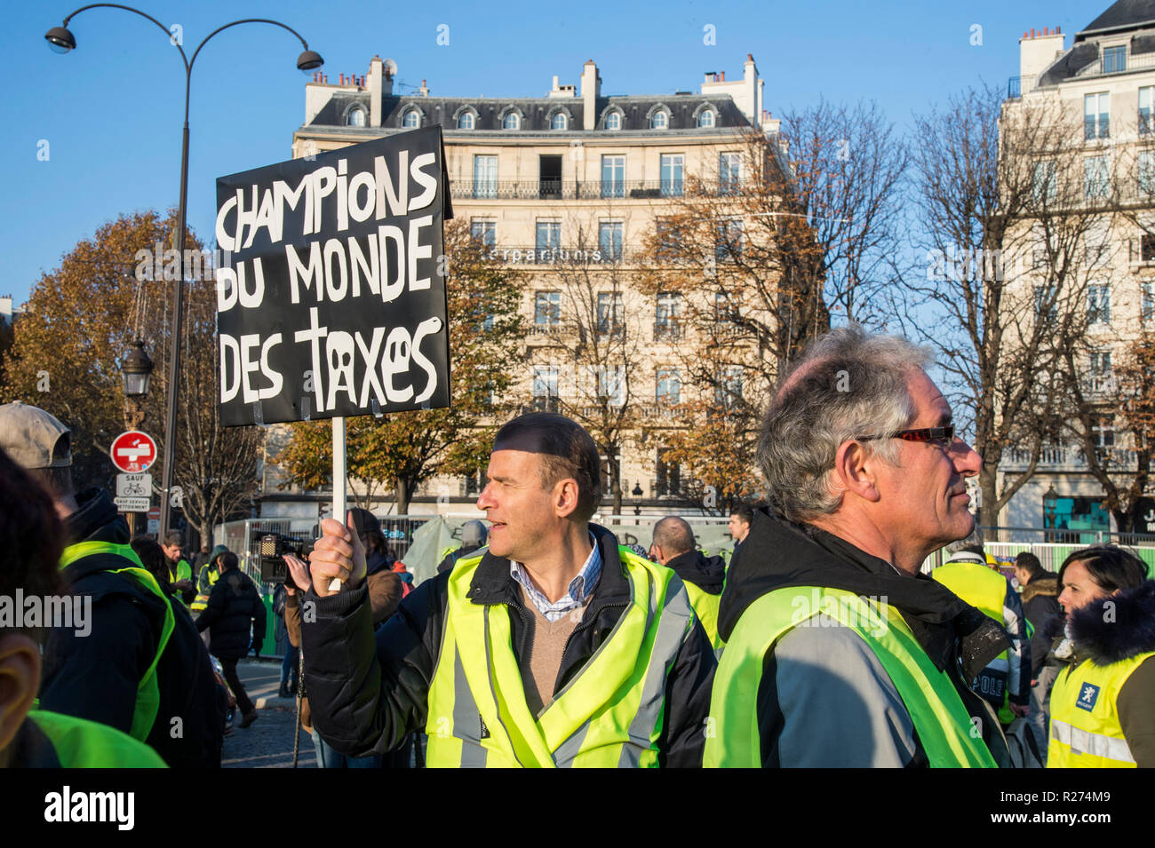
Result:
[[[851,2],[395,3],[326,0],[163,2],[140,8],[182,28],[186,51],[238,17],[273,17],[297,29],[326,60],[330,82],[364,74],[374,53],[393,58],[398,81],[434,95],[541,96],[553,74],[579,83],[597,62],[603,93],[696,90],[702,73],[737,76],[753,53],[775,114],[830,100],[875,99],[906,126],[967,85],[1006,85],[1024,30],[1060,27],[1071,36],[1108,0],[940,0]],[[76,3],[75,6],[73,3]],[[77,48],[52,53],[44,32],[83,3],[54,0],[6,7],[0,136],[0,294],[23,301],[77,240],[119,213],[174,207],[180,175],[184,67],[165,35],[118,9],[90,9],[69,28]],[[447,46],[437,43],[448,25]],[[703,44],[711,24],[716,44]],[[978,24],[982,44],[973,45]],[[188,220],[211,239],[215,179],[289,158],[304,114],[299,43],[267,24],[213,39],[193,73]],[[47,142],[45,145],[44,142]],[[38,153],[47,151],[47,159]]]

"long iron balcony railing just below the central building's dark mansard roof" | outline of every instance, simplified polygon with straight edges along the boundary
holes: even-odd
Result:
[[[724,197],[742,193],[736,179],[699,180],[450,180],[454,200],[596,201],[661,200],[690,195]]]

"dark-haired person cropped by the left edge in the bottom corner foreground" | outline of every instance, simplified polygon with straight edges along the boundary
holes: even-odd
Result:
[[[52,609],[46,601],[67,592],[58,569],[64,528],[52,498],[3,450],[0,538],[5,542],[0,546],[0,598],[38,598],[42,609]],[[24,605],[18,611],[24,611]],[[164,760],[151,748],[127,734],[31,708],[40,686],[44,625],[43,621],[0,616],[0,767],[163,768]]]

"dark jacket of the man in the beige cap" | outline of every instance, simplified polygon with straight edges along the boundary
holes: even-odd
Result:
[[[128,543],[128,525],[103,489],[76,496],[65,523],[67,542]],[[110,725],[128,733],[136,688],[156,656],[164,623],[162,601],[107,569],[132,565],[112,554],[79,560],[64,571],[73,594],[91,603],[91,632],[54,628],[44,651],[40,708]],[[174,629],[157,666],[161,706],[146,740],[170,766],[219,766],[222,721],[216,678],[204,643],[184,607],[173,601]],[[179,719],[179,722],[176,720]],[[179,734],[172,733],[180,728]]]

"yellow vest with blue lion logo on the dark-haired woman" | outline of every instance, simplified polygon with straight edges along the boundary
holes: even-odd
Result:
[[[1123,736],[1119,690],[1155,651],[1109,666],[1085,660],[1059,674],[1051,690],[1048,768],[1134,768]]]

